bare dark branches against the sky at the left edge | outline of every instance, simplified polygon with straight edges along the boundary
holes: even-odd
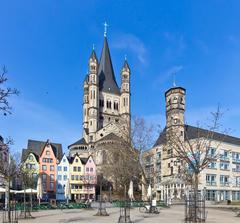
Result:
[[[3,115],[11,114],[12,107],[9,104],[9,97],[12,95],[19,95],[19,91],[16,88],[6,87],[5,84],[8,80],[6,77],[7,69],[3,66],[0,72],[0,111]]]

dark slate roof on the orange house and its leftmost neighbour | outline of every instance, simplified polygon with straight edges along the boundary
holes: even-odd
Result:
[[[32,153],[36,154],[37,156],[40,156],[46,144],[47,144],[47,142],[29,139],[27,149],[26,149],[27,151],[24,151],[24,149],[22,151],[22,159],[24,158],[24,156],[26,154],[28,155],[29,152],[32,152]],[[52,149],[53,149],[53,152],[54,152],[54,155],[56,156],[56,158],[58,160],[61,160],[62,156],[63,156],[62,144],[50,142],[50,145],[52,146]]]

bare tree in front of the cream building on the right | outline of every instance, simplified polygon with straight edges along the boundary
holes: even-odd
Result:
[[[221,128],[220,118],[222,116],[220,108],[218,107],[216,112],[211,114],[210,124],[205,129],[200,126],[195,127],[194,137],[189,135],[186,126],[183,127],[183,132],[179,131],[179,127],[170,127],[166,132],[167,142],[165,149],[170,149],[170,158],[176,158],[185,167],[177,175],[186,184],[192,186],[195,212],[197,211],[199,174],[209,163],[218,159],[218,148],[226,136],[226,131],[219,134]],[[210,153],[212,147],[216,149],[215,153]],[[197,218],[197,213],[194,216]],[[196,221],[197,219],[195,219]]]

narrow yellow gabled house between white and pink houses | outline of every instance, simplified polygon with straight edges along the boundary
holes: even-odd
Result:
[[[70,160],[70,186],[72,200],[81,200],[85,198],[84,191],[84,164],[81,158],[76,154]]]

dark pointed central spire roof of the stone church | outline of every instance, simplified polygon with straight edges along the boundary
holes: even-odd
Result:
[[[112,60],[108,47],[107,38],[104,37],[103,49],[98,68],[99,90],[113,94],[120,94],[120,89],[117,85]]]

